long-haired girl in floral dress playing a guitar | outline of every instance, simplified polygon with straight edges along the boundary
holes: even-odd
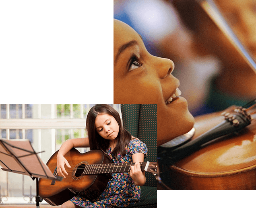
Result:
[[[88,138],[70,139],[62,144],[57,156],[57,170],[66,178],[71,168],[64,155],[73,147],[101,149],[114,163],[135,162],[130,173],[115,173],[107,188],[97,199],[89,201],[85,192],[80,192],[61,208],[78,207],[124,207],[140,200],[140,186],[146,182],[145,172],[141,171],[140,162],[147,155],[147,146],[122,127],[120,115],[109,105],[95,105],[87,116]]]

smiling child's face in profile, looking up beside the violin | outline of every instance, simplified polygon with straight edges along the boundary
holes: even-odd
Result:
[[[114,19],[114,103],[157,104],[157,145],[187,133],[194,125],[186,99],[173,98],[180,86],[169,59],[148,53],[139,34]]]

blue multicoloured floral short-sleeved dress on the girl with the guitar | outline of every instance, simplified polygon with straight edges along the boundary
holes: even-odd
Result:
[[[144,157],[146,158],[147,151],[147,145],[139,139],[134,138],[126,146],[125,156],[118,154],[117,159],[114,158],[111,155],[110,146],[106,153],[114,163],[131,163],[133,154],[144,153]],[[113,178],[109,180],[107,188],[97,199],[89,201],[85,198],[85,193],[81,192],[70,201],[77,206],[87,208],[126,207],[140,201],[140,187],[134,184],[130,173],[114,173],[112,176]]]

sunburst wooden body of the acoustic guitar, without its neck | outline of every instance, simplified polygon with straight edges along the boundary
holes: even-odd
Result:
[[[54,153],[47,166],[52,173],[57,167],[57,154]],[[64,155],[71,168],[66,167],[68,176],[60,181],[39,179],[39,196],[52,206],[58,206],[70,200],[78,192],[86,190],[88,200],[93,200],[100,196],[105,190],[111,177],[110,174],[82,175],[80,170],[85,165],[111,163],[111,160],[100,150],[92,150],[86,153],[80,153],[76,149],[71,149]],[[77,169],[78,168],[78,169]],[[80,173],[80,174],[79,174]]]

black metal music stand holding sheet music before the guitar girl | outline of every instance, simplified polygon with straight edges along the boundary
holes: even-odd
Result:
[[[37,154],[29,140],[0,139],[0,165],[3,167],[2,170],[27,175],[33,180],[36,179],[37,195],[35,199],[36,206],[39,208],[39,202],[42,202],[42,198],[39,197],[38,178],[61,181],[63,177],[54,176]]]

